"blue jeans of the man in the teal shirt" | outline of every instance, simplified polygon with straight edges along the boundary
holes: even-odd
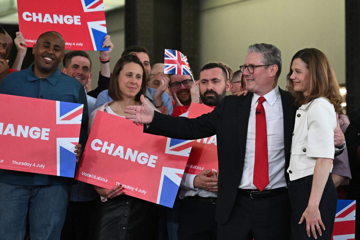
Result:
[[[60,239],[69,191],[69,185],[0,183],[0,240],[24,239],[27,214],[31,240]]]

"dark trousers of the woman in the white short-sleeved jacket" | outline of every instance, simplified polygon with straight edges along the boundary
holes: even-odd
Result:
[[[302,213],[307,208],[310,198],[311,186],[313,176],[303,177],[289,182],[289,195],[291,199],[291,235],[293,240],[309,239],[306,232],[306,221],[298,224]],[[330,240],[334,227],[334,220],[337,205],[337,191],[334,186],[331,174],[329,174],[328,181],[325,185],[323,195],[319,204],[321,214],[321,221],[325,225],[325,231],[322,230],[322,236],[316,231],[318,239]],[[310,231],[310,235],[312,233]],[[320,237],[320,238],[319,238]]]

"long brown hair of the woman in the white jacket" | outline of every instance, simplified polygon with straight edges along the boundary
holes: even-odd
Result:
[[[307,96],[304,96],[302,92],[294,91],[294,84],[290,79],[289,90],[296,97],[295,104],[306,104],[315,98],[322,97],[327,98],[334,105],[335,112],[338,112],[341,109],[341,103],[345,102],[345,99],[339,92],[339,84],[329,59],[318,49],[302,49],[291,60],[290,74],[292,74],[292,63],[297,58],[300,58],[309,69],[310,91]]]

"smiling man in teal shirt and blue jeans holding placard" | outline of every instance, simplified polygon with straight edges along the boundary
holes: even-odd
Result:
[[[59,33],[42,33],[32,49],[34,63],[23,71],[8,74],[0,84],[0,94],[80,103],[86,113],[84,87],[58,69],[64,49]],[[82,146],[87,139],[87,122],[87,114],[82,114]],[[75,153],[78,158],[80,149]],[[0,169],[1,239],[24,239],[27,215],[31,238],[60,239],[72,182],[68,177]]]

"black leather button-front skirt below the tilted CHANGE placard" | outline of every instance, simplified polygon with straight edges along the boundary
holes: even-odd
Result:
[[[157,240],[158,206],[128,195],[97,202],[96,240]]]

